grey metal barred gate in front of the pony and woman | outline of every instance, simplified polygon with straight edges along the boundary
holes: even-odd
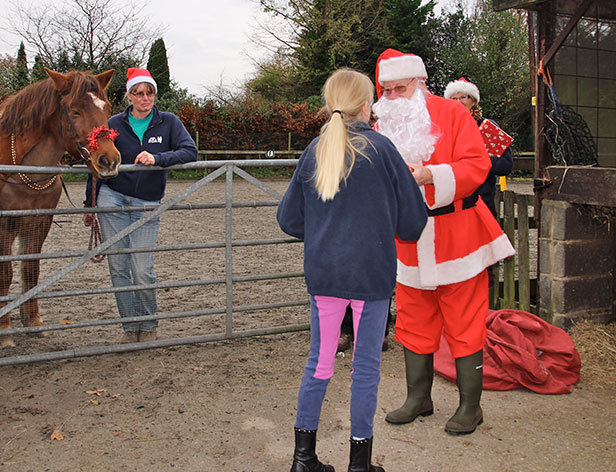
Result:
[[[19,280],[15,279],[19,275],[15,271],[11,292],[0,297],[0,302],[7,303],[0,308],[0,316],[12,312],[14,326],[15,309],[36,298],[44,322],[39,327],[12,327],[4,331],[2,334],[14,336],[17,347],[0,351],[0,366],[308,329],[308,310],[304,308],[308,306],[308,297],[302,272],[303,245],[286,237],[275,221],[276,207],[284,192],[282,186],[286,187],[288,179],[265,184],[243,170],[296,164],[296,159],[261,159],[193,162],[171,167],[169,169],[198,169],[209,173],[196,182],[191,181],[190,185],[185,184],[186,188],[174,195],[168,195],[160,206],[145,208],[143,218],[92,249],[76,249],[87,247],[89,230],[81,224],[81,217],[92,209],[71,208],[66,204],[63,207],[64,196],[54,210],[0,211],[0,218],[51,213],[56,222],[41,254],[0,256],[0,261],[41,260],[40,282],[26,293],[19,293],[16,288]],[[148,166],[145,170],[159,169]],[[122,166],[120,169],[121,172],[135,170],[144,170],[144,167]],[[0,166],[0,172],[16,170],[13,166]],[[19,166],[19,172],[58,173],[58,167]],[[60,173],[84,172],[87,170],[80,166],[60,167]],[[223,185],[217,180],[223,176],[224,194]],[[234,176],[240,177],[240,184],[234,185]],[[171,182],[167,186],[168,193],[170,186],[176,185]],[[71,186],[74,187],[83,194],[85,184]],[[218,193],[210,193],[212,187],[216,187]],[[267,194],[274,200],[237,201],[234,189],[236,194],[242,193],[237,192],[238,188],[243,193],[249,188],[257,192],[258,197]],[[111,208],[95,210],[112,211]],[[122,208],[127,212],[143,210],[143,207]],[[161,215],[156,247],[109,250],[121,238]],[[74,232],[77,232],[76,237],[69,236]],[[258,237],[251,237],[255,232]],[[100,254],[137,251],[154,252],[156,283],[111,287],[107,263],[91,261]],[[284,270],[261,273],[272,265]],[[160,269],[165,269],[167,275],[161,277]],[[184,274],[186,277],[182,277]],[[148,289],[156,289],[158,313],[120,319],[113,294]],[[164,321],[161,323],[163,329],[159,329],[163,339],[117,344],[117,333],[121,332],[119,324],[146,319]],[[17,336],[42,333],[47,337]]]

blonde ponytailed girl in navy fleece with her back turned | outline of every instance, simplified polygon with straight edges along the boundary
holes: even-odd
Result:
[[[304,240],[310,354],[297,401],[291,472],[331,472],[315,453],[340,325],[353,310],[349,471],[370,464],[381,345],[396,282],[395,236],[416,241],[427,221],[419,187],[394,145],[368,125],[374,86],[359,72],[333,73],[323,88],[330,120],[299,159],[278,207],[282,230]]]

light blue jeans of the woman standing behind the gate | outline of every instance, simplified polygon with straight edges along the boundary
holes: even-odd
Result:
[[[158,205],[160,201],[147,201],[140,198],[129,197],[120,192],[101,185],[97,197],[99,207],[143,206]],[[99,213],[98,220],[101,227],[103,241],[113,237],[127,226],[133,224],[146,215],[145,211]],[[158,239],[160,218],[155,218],[132,233],[128,234],[110,249],[153,247]],[[151,252],[133,254],[115,254],[107,256],[109,274],[114,287],[130,285],[153,284],[156,282],[154,273],[154,256]],[[117,292],[115,294],[118,311],[122,318],[133,316],[155,315],[156,290],[136,290],[130,292]],[[157,320],[124,323],[126,331],[153,331],[158,326]]]

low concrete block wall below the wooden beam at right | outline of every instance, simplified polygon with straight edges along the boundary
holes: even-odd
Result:
[[[540,227],[540,316],[561,328],[615,320],[614,225],[579,205],[544,200]]]

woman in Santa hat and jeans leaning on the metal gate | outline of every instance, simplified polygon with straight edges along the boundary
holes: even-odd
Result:
[[[146,69],[129,68],[126,98],[130,105],[123,113],[109,119],[109,128],[118,132],[115,145],[122,154],[122,164],[168,167],[197,160],[197,147],[182,122],[173,113],[158,111],[154,106],[157,86]],[[96,205],[100,207],[152,206],[160,204],[167,184],[167,171],[123,172],[111,180],[98,183]],[[92,206],[92,178],[86,186],[86,206]],[[145,212],[99,213],[101,234],[111,238],[145,216]],[[86,216],[86,220],[91,218]],[[86,224],[89,222],[86,221]],[[153,247],[158,238],[160,219],[139,227],[111,249]],[[153,284],[156,282],[154,256],[151,252],[109,255],[109,273],[114,287]],[[115,294],[122,318],[155,315],[156,291],[137,290]],[[124,323],[123,343],[156,339],[157,320]]]

